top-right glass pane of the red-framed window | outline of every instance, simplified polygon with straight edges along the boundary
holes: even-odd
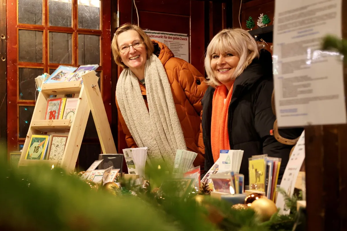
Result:
[[[100,0],[78,0],[78,28],[100,30]]]

